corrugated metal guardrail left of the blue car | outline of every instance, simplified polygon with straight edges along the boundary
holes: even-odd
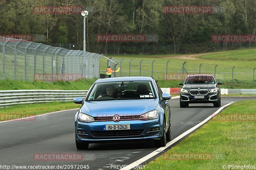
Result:
[[[72,101],[76,97],[85,97],[88,90],[2,90],[0,91],[0,107],[43,103],[52,101]]]

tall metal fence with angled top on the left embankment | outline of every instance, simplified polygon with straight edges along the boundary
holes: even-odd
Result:
[[[34,80],[36,74],[100,77],[103,55],[0,37],[0,80]]]

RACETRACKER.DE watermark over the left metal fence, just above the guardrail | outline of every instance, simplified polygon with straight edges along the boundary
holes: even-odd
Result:
[[[34,81],[76,81],[83,78],[83,74],[34,74]]]

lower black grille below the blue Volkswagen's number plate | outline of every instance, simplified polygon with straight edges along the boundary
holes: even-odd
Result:
[[[111,131],[90,131],[93,137],[133,137],[140,136],[144,129],[139,130],[111,130]]]

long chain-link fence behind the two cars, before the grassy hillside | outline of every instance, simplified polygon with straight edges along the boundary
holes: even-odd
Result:
[[[190,60],[188,62],[182,60],[159,58],[143,59],[130,58],[112,58],[115,61],[116,68],[120,67],[120,71],[113,73],[112,77],[122,76],[152,76],[156,79],[164,80],[184,80],[188,74],[212,74],[217,81],[243,80],[254,83],[255,65],[233,66],[228,61],[222,61],[216,64],[201,63],[198,60]],[[106,65],[101,62],[100,72],[105,72]],[[213,62],[214,63],[214,62]],[[217,65],[217,63],[219,65]],[[114,67],[111,67],[114,68]],[[114,69],[115,70],[115,69]],[[183,75],[183,76],[182,76]]]

